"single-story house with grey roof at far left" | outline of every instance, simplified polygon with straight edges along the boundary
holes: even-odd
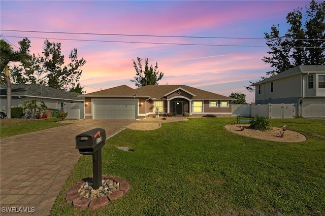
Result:
[[[7,107],[7,85],[0,86],[1,106]],[[48,109],[67,112],[68,119],[84,119],[84,99],[77,93],[61,91],[36,84],[11,84],[11,106],[21,106],[25,101],[44,101]]]

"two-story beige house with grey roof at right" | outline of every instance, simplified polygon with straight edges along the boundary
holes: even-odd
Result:
[[[256,104],[295,103],[297,115],[325,117],[325,65],[300,65],[255,86]]]

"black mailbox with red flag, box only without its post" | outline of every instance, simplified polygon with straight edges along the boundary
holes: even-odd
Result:
[[[82,155],[92,155],[105,145],[106,133],[102,128],[95,128],[76,136],[76,149]]]

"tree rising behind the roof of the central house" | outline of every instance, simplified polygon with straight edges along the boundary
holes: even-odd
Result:
[[[130,81],[135,82],[137,87],[158,85],[158,81],[164,76],[164,73],[159,72],[158,70],[158,63],[156,62],[156,66],[154,68],[152,65],[149,67],[148,58],[145,58],[145,69],[143,70],[141,60],[142,58],[138,57],[138,65],[135,60],[133,60],[133,66],[136,69],[136,76],[134,77],[134,80]]]

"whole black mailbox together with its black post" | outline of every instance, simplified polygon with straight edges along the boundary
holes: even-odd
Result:
[[[76,149],[82,155],[92,155],[93,188],[102,185],[102,147],[106,133],[102,128],[95,128],[76,136]]]

